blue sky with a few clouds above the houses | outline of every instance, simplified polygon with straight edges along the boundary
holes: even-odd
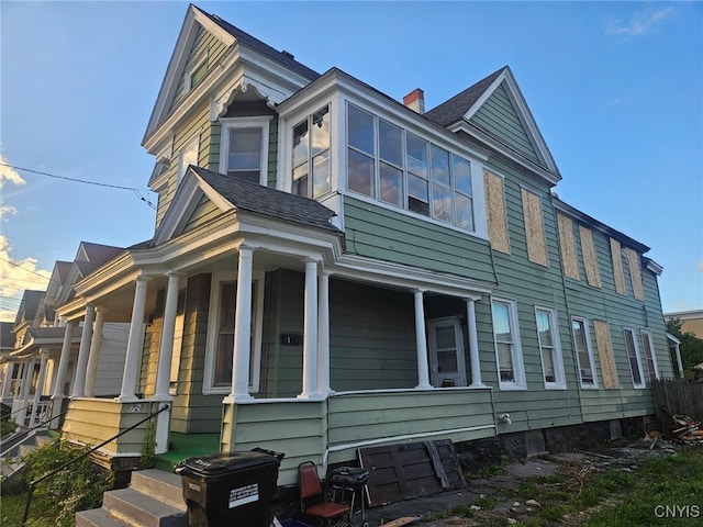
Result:
[[[703,309],[703,3],[197,4],[427,109],[510,65],[559,197],[651,247],[665,312]],[[187,7],[0,2],[0,319],[81,240],[152,237],[141,142]]]

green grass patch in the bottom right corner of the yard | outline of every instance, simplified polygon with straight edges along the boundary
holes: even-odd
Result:
[[[488,497],[433,514],[425,522],[451,516],[503,526],[510,516],[521,527],[689,527],[703,525],[703,448],[662,453],[631,469],[565,464],[560,473],[520,481]],[[515,507],[536,500],[540,506]],[[471,508],[471,505],[480,507]]]

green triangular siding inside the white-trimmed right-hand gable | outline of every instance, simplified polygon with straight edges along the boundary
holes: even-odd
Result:
[[[527,159],[539,162],[535,147],[503,85],[471,116],[470,122]]]

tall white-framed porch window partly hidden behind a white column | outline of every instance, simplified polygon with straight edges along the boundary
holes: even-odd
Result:
[[[252,282],[252,318],[249,340],[249,392],[259,390],[261,366],[261,317],[264,277]],[[212,277],[205,380],[203,392],[230,393],[234,357],[237,282],[234,276],[215,273]]]

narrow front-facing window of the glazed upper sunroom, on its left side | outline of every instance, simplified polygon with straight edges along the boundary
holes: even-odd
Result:
[[[292,193],[320,198],[332,190],[330,179],[330,106],[293,126]]]

